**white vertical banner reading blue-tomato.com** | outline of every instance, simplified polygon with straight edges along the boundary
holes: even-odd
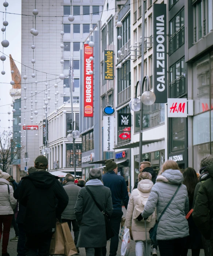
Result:
[[[104,116],[103,149],[105,152],[114,151],[115,125],[114,116]]]

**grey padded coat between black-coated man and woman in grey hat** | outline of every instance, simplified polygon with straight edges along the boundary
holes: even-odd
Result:
[[[76,186],[73,181],[69,181],[63,186],[69,197],[69,203],[67,204],[66,209],[62,212],[62,219],[75,219],[74,207],[77,201],[78,192],[81,189]]]

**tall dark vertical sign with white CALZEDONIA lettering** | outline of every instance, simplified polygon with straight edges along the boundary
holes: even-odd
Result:
[[[166,4],[153,4],[153,84],[155,103],[167,103]]]

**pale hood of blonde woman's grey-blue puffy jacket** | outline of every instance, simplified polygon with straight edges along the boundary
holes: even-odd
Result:
[[[165,182],[170,184],[181,184],[183,182],[183,174],[179,170],[166,170],[158,175],[156,182]]]

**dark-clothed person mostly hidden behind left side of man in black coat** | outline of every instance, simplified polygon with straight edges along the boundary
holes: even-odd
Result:
[[[31,174],[36,171],[35,167],[30,167],[28,169],[27,174]],[[20,192],[20,187],[22,184],[22,180],[19,182],[17,189],[14,191],[13,196],[15,199],[19,200],[19,192]],[[16,218],[16,223],[18,225],[19,229],[19,239],[17,243],[17,256],[25,256],[26,255],[26,250],[24,248],[25,245],[25,237],[26,237],[26,232],[24,230],[24,215],[26,213],[26,207],[24,207],[22,204],[19,203],[19,211],[18,215]]]

